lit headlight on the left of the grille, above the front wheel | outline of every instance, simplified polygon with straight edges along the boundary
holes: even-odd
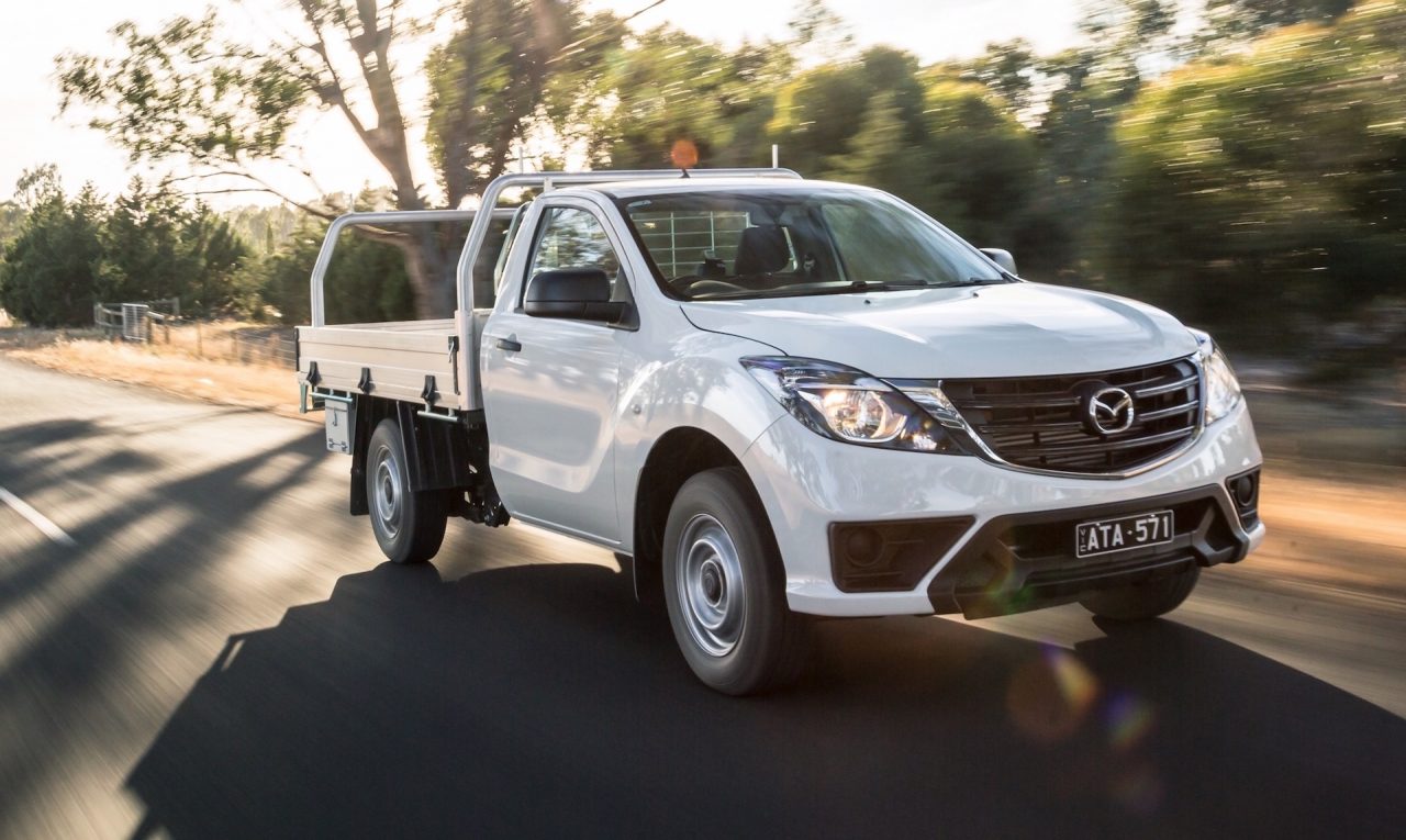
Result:
[[[959,451],[939,417],[863,371],[783,355],[749,355],[741,362],[776,402],[818,434],[889,449]],[[946,402],[941,392],[925,398]]]

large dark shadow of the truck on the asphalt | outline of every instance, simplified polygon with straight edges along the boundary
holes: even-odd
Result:
[[[1406,722],[1174,621],[1105,629],[825,622],[800,685],[733,700],[609,567],[382,565],[229,639],[129,774],[134,836],[1399,829]]]

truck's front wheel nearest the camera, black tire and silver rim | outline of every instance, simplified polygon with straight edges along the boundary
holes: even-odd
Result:
[[[786,576],[761,500],[738,468],[679,487],[664,531],[664,598],[693,673],[723,694],[793,681],[810,619],[786,607]]]

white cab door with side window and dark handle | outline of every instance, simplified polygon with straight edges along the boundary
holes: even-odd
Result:
[[[634,333],[530,316],[522,299],[543,271],[600,268],[628,301],[617,254],[591,205],[544,199],[516,299],[489,317],[479,354],[489,465],[508,510],[606,544],[620,541],[614,437],[621,341]]]

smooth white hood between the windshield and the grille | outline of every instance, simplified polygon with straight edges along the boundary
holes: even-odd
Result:
[[[695,326],[887,379],[1045,376],[1191,355],[1160,309],[1036,282],[683,303]]]

